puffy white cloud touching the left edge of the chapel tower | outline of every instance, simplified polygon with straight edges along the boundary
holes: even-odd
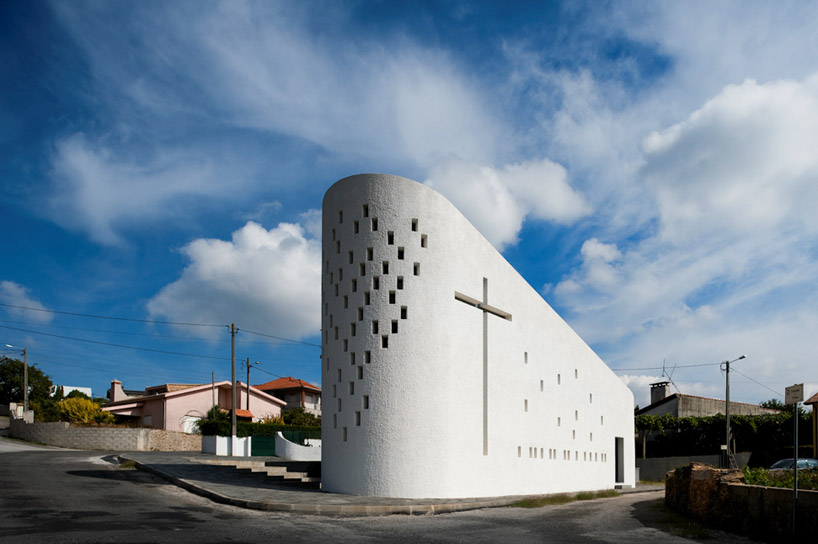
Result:
[[[301,226],[281,223],[266,230],[248,222],[230,241],[198,239],[182,252],[190,263],[150,300],[152,316],[235,322],[292,339],[319,334],[321,248]]]

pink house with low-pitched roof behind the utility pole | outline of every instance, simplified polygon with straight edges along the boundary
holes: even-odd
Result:
[[[250,403],[247,409],[247,386],[237,382],[236,416],[251,421],[281,415],[286,403],[254,387],[250,387]],[[111,382],[111,402],[102,407],[116,416],[133,418],[143,427],[191,433],[195,422],[203,417],[213,405],[231,408],[230,382],[215,384],[168,383],[145,388],[140,396],[130,396],[122,389],[122,382]]]

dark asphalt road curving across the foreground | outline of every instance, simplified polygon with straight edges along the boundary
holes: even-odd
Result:
[[[327,518],[243,510],[192,495],[99,452],[0,438],[0,543],[693,542],[656,527],[661,493],[538,509]],[[708,542],[748,542],[715,533]]]

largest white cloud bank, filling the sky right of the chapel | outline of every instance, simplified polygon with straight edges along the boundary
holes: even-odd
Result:
[[[816,81],[728,85],[646,138],[654,233],[622,248],[587,240],[553,291],[614,367],[746,352],[741,368],[773,390],[818,379],[806,333],[818,324]],[[717,365],[696,372],[709,381],[681,371],[683,392],[723,397]],[[742,387],[750,402],[773,396]]]

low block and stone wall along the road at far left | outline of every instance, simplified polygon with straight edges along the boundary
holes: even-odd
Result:
[[[202,437],[160,429],[76,427],[66,422],[26,423],[12,419],[10,433],[29,442],[105,451],[200,451]]]

